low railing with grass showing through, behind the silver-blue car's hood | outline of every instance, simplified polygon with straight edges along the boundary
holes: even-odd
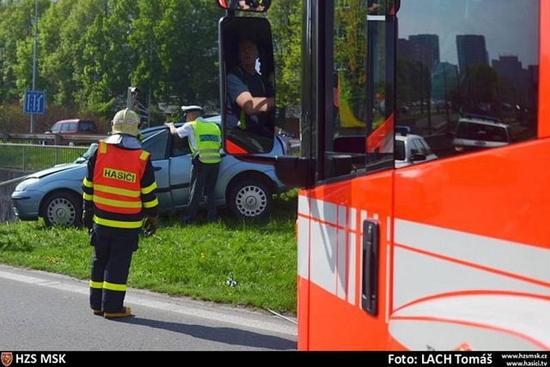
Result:
[[[74,162],[87,149],[83,146],[0,144],[0,168],[43,170],[56,164]]]

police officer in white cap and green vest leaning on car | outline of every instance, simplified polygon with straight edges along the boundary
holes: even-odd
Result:
[[[173,123],[166,124],[170,133],[181,138],[188,137],[189,147],[192,153],[191,190],[190,201],[184,223],[190,223],[195,219],[197,208],[206,194],[206,207],[208,208],[208,221],[216,221],[216,202],[214,188],[218,178],[221,156],[221,131],[214,122],[206,122],[200,118],[202,111],[199,106],[181,106],[186,113],[186,123],[177,128]]]

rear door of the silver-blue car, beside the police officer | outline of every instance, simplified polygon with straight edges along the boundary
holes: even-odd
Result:
[[[189,201],[191,181],[191,151],[187,137],[183,139],[170,136],[171,144],[169,160],[170,193],[174,209],[181,209]]]

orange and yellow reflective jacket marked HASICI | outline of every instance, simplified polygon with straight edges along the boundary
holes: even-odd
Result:
[[[99,227],[137,233],[145,214],[157,214],[156,188],[149,153],[99,142],[88,162],[83,199],[93,203]]]

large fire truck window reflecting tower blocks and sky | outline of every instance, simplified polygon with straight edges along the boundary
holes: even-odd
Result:
[[[439,158],[536,139],[538,0],[401,1],[397,18],[397,125]]]

